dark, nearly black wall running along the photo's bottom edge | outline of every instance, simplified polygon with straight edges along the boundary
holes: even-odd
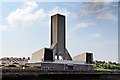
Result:
[[[14,69],[15,70],[15,69]],[[119,74],[98,74],[86,72],[60,72],[60,71],[12,71],[3,72],[2,80],[120,80]],[[7,70],[9,71],[9,70]],[[16,72],[17,74],[13,74]]]

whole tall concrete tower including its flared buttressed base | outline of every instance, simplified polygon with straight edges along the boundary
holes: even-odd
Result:
[[[51,49],[57,59],[72,60],[66,49],[65,16],[56,14],[51,16]]]

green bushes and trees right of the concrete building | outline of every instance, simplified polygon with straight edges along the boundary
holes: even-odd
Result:
[[[94,61],[93,67],[95,70],[120,70],[120,64],[115,62]]]

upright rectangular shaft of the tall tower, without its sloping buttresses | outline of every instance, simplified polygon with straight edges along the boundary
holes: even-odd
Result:
[[[65,53],[65,16],[57,14],[51,17],[51,46],[57,43],[57,54]]]

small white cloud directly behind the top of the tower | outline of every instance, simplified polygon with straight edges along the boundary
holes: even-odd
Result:
[[[50,16],[54,15],[54,14],[57,14],[57,13],[65,15],[65,16],[70,16],[70,12],[68,12],[67,9],[65,9],[65,8],[59,8],[59,7],[53,8],[48,13],[50,14]]]

